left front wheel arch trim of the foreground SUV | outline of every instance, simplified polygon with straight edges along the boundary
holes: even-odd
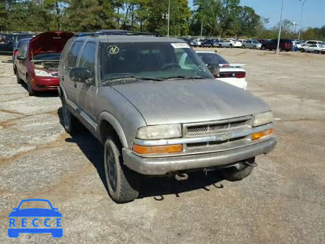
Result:
[[[112,135],[120,141],[122,147],[128,148],[124,130],[113,114],[104,111],[99,116],[98,121],[97,131],[103,143],[105,143],[105,138],[108,135]]]

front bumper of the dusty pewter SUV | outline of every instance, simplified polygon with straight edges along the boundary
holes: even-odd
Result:
[[[276,145],[275,137],[267,141],[218,153],[175,156],[168,158],[142,158],[129,148],[122,149],[124,164],[130,169],[146,175],[164,175],[169,172],[229,166],[261,154],[270,153]]]

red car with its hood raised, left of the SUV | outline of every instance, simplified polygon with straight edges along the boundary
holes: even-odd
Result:
[[[61,52],[73,35],[70,32],[45,32],[21,45],[15,58],[16,77],[17,83],[27,84],[29,96],[57,90]]]

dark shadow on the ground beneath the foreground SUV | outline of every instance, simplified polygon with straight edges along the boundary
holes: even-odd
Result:
[[[58,115],[63,126],[61,110],[62,108],[58,109]],[[95,166],[107,190],[103,164],[104,147],[98,139],[86,128],[83,128],[81,133],[67,138],[66,141],[76,143],[79,146],[82,153]],[[209,192],[211,188],[208,189],[208,186],[223,188],[223,185],[219,184],[221,180],[222,178],[217,174],[217,171],[208,171],[205,175],[202,170],[188,173],[188,179],[184,181],[178,181],[174,177],[143,177],[139,198],[154,197],[155,200],[161,201],[164,200],[164,195],[173,194],[180,197],[179,193],[197,189],[204,189]]]

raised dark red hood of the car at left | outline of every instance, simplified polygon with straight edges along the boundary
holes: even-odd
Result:
[[[29,58],[40,53],[62,52],[73,35],[70,32],[45,32],[32,38],[29,42]]]

